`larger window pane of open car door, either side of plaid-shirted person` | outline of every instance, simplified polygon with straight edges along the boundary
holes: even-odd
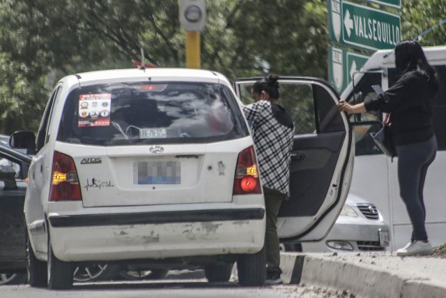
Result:
[[[240,100],[245,105],[254,103],[251,96],[253,84],[240,85]],[[294,133],[316,133],[316,117],[311,84],[279,82],[279,105],[283,105],[295,125]]]

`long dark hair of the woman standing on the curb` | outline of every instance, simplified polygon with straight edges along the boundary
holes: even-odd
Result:
[[[395,47],[395,64],[398,77],[411,71],[424,75],[428,82],[438,87],[436,72],[429,64],[419,43],[414,40],[401,40]]]

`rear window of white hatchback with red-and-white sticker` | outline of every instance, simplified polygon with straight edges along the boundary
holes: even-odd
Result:
[[[57,140],[120,145],[217,142],[248,135],[222,84],[114,83],[70,92]]]

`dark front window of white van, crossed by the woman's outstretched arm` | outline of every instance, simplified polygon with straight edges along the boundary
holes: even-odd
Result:
[[[375,96],[376,93],[371,88],[372,85],[381,85],[380,72],[364,73],[360,82],[355,84],[354,96],[351,94],[346,100],[355,104],[362,103],[364,100]],[[380,129],[380,113],[369,111],[362,114],[350,114],[349,119],[355,138],[355,155],[381,154],[370,135]]]

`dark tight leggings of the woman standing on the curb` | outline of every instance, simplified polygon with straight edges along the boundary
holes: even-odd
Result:
[[[423,188],[427,168],[435,159],[436,152],[435,137],[425,142],[397,146],[399,194],[412,223],[411,241],[427,240]]]

